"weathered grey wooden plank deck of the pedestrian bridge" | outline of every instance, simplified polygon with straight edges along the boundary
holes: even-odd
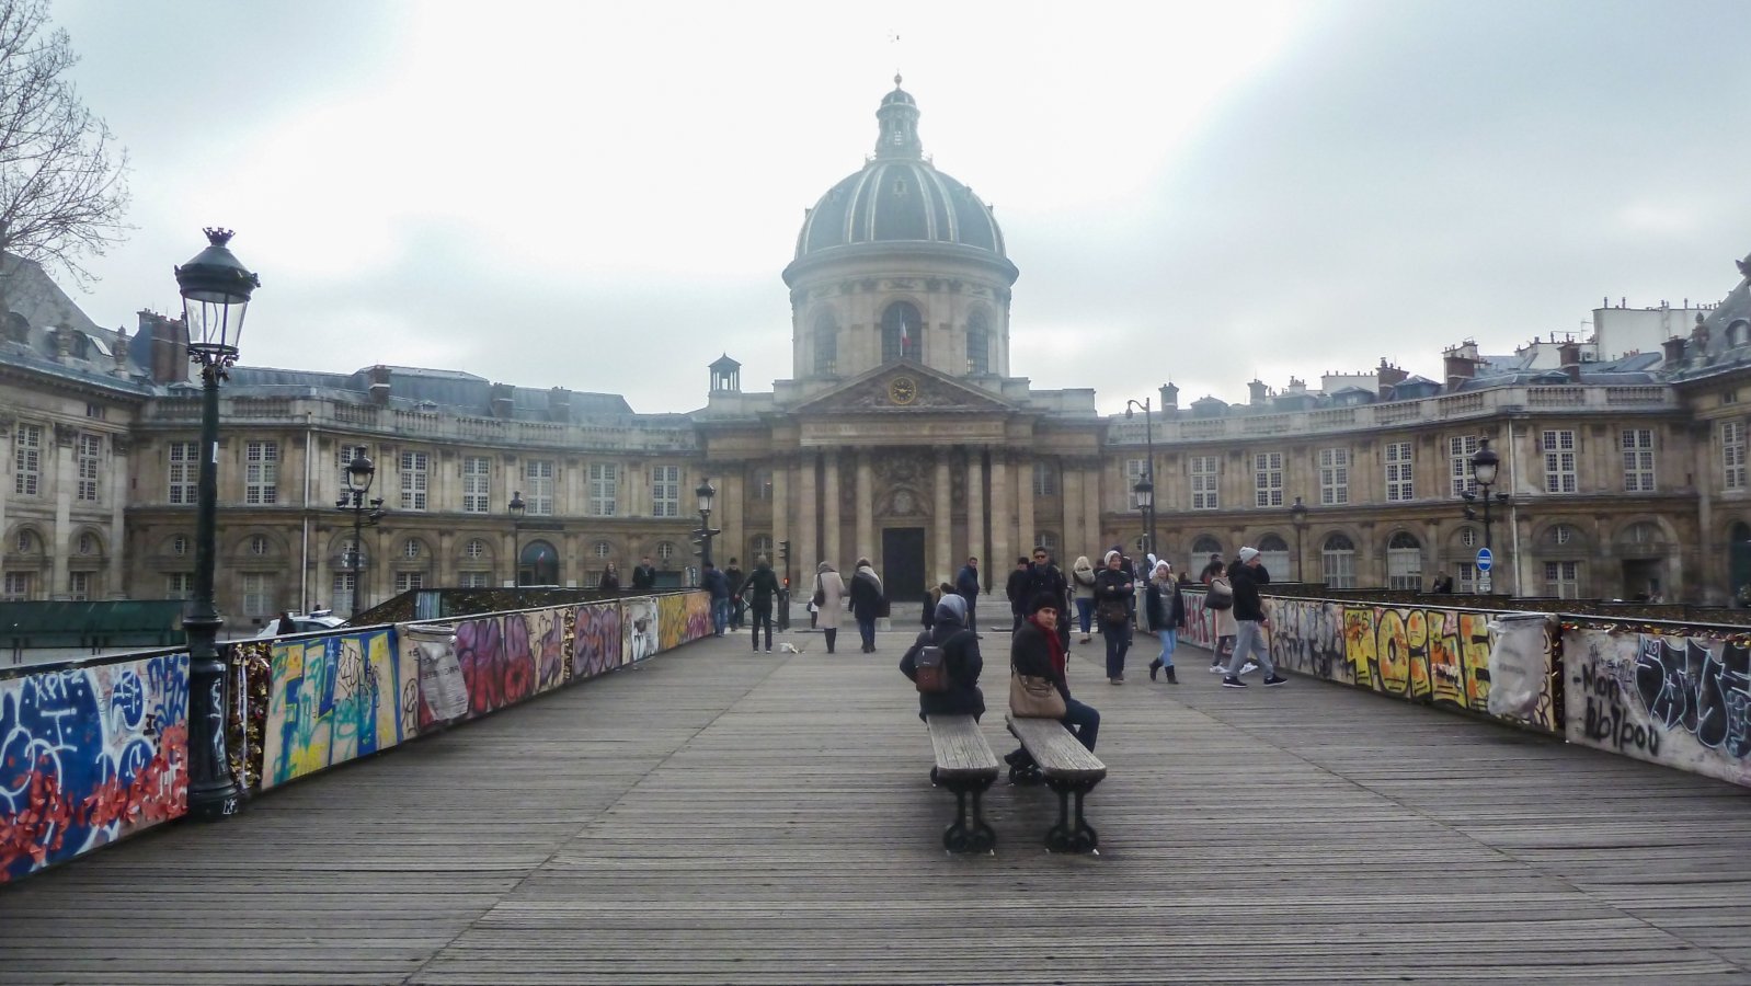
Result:
[[[1100,856],[995,856],[876,655],[702,641],[0,888],[0,982],[1751,982],[1751,792],[1343,687],[1072,683]],[[854,634],[853,634],[854,637]],[[844,634],[840,634],[844,641]],[[988,636],[984,729],[1007,646]]]

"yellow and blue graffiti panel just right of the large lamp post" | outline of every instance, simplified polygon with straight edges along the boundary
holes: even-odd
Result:
[[[413,736],[394,702],[411,669],[392,644],[389,630],[273,644],[263,788]]]

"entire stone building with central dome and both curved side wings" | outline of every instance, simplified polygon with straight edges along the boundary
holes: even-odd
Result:
[[[683,583],[702,478],[718,490],[718,560],[783,566],[788,545],[798,590],[821,560],[868,557],[907,599],[967,555],[1002,587],[1035,545],[1066,562],[1135,552],[1145,473],[1159,553],[1192,573],[1255,545],[1276,580],[1417,588],[1446,571],[1467,590],[1485,529],[1460,494],[1483,438],[1511,494],[1488,531],[1497,592],[1725,602],[1751,583],[1744,261],[1660,352],[1460,343],[1441,380],[1383,361],[1319,391],[1254,382],[1243,405],[1182,408],[1168,385],[1147,424],[1103,417],[1093,389],[1010,375],[1026,363],[1010,350],[1019,270],[991,208],[925,158],[918,121],[897,86],[876,152],[809,210],[783,271],[791,378],[770,391],[744,392],[728,356],[692,413],[448,370],[236,368],[221,412],[221,611],[233,625],[345,611],[355,560],[366,604],[415,587],[587,587],[643,555]],[[182,326],[142,312],[133,335],[100,329],[33,264],[9,259],[7,278],[4,595],[186,594],[200,398]],[[361,450],[387,515],[354,557],[336,501]]]

